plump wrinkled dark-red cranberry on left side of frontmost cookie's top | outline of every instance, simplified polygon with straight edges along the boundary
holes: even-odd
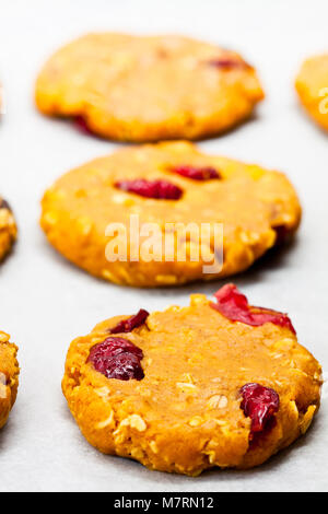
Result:
[[[142,350],[132,342],[120,337],[108,337],[91,349],[86,362],[92,362],[94,369],[107,378],[141,381],[144,376],[142,359]]]

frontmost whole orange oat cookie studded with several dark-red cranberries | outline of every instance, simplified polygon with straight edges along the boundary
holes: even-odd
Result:
[[[62,389],[92,445],[198,475],[259,465],[306,432],[321,370],[289,317],[232,284],[215,296],[116,316],[71,343]]]

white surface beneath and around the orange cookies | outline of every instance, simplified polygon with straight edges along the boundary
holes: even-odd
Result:
[[[200,145],[288,173],[304,219],[294,245],[235,281],[255,305],[288,311],[300,341],[327,367],[328,135],[304,116],[293,90],[302,59],[328,50],[327,1],[0,0],[0,77],[7,94],[0,191],[20,225],[14,254],[0,267],[0,327],[20,346],[22,367],[16,405],[0,433],[0,490],[327,491],[327,398],[305,437],[245,472],[216,470],[192,479],[149,471],[103,456],[83,440],[60,390],[70,341],[109,316],[186,304],[191,292],[211,294],[220,283],[119,288],[58,256],[38,229],[43,191],[115,144],[46,119],[33,104],[43,61],[84,32],[177,32],[241,50],[258,68],[267,98],[256,119]]]

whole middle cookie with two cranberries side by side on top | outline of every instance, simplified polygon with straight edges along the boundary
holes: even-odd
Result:
[[[131,224],[132,215],[140,230]],[[62,255],[92,274],[120,284],[156,287],[243,271],[293,234],[300,217],[296,194],[281,173],[174,142],[125,149],[59,178],[44,197],[42,226]],[[133,243],[149,222],[159,227],[160,243],[151,261],[144,256],[144,238],[137,250]],[[117,223],[126,234],[114,231]],[[207,229],[208,236],[184,233],[190,223],[199,233]],[[219,254],[222,246],[215,236],[220,223],[223,267],[204,271],[214,249]],[[174,240],[174,255],[164,252],[164,234],[165,244],[171,241],[167,233]],[[115,260],[114,243],[124,238],[127,256]],[[194,257],[197,245],[201,252]]]

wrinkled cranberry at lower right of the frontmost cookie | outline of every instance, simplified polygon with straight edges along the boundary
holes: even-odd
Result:
[[[251,419],[249,435],[251,441],[254,434],[263,432],[270,427],[279,410],[279,395],[274,389],[255,383],[245,384],[239,393],[243,397],[241,409]]]

